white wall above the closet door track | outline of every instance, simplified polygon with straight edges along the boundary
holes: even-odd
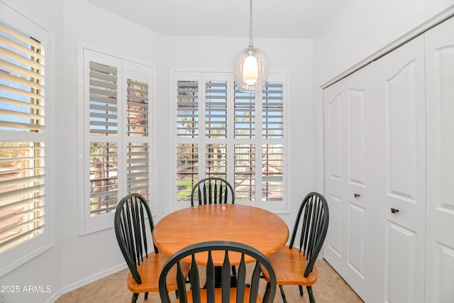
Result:
[[[314,79],[328,82],[454,5],[453,0],[345,0],[314,37]]]

